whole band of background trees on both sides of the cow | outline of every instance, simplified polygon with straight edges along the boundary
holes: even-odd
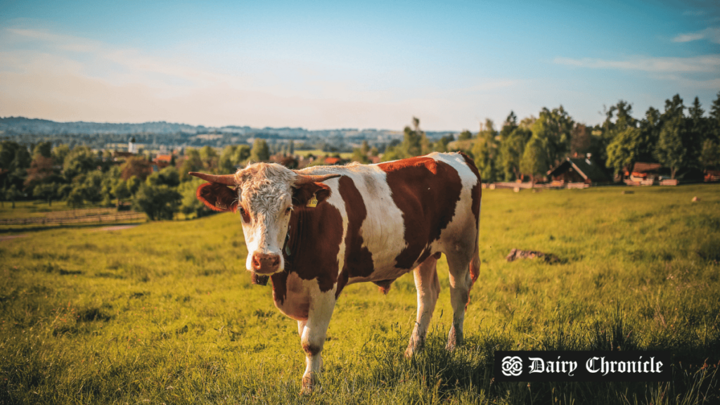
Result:
[[[465,151],[474,159],[484,182],[536,181],[567,156],[591,156],[608,174],[630,171],[635,162],[657,162],[672,178],[688,170],[720,169],[720,92],[705,114],[696,97],[690,107],[675,95],[664,111],[649,107],[644,117],[632,115],[624,100],[606,109],[603,123],[577,123],[567,110],[543,108],[538,117],[522,120],[510,112],[501,128],[486,120],[476,134],[464,130],[457,138],[446,135],[431,141],[420,120],[405,127],[402,141],[384,148],[382,161],[420,156],[431,151]],[[276,146],[292,156],[294,143]],[[367,141],[351,160],[369,163],[379,155]],[[221,151],[210,146],[186,148],[167,167],[153,172],[150,155],[118,162],[112,151],[88,146],[41,141],[28,148],[14,141],[0,142],[0,201],[64,200],[71,207],[117,205],[134,208],[152,220],[171,219],[176,213],[210,213],[195,197],[202,180],[188,172],[233,173],[248,162],[268,161],[271,148],[264,139],[253,146],[231,145]],[[318,161],[316,161],[316,164]]]

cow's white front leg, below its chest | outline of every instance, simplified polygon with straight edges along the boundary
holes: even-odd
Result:
[[[300,343],[302,350],[305,350],[305,374],[302,375],[302,388],[300,393],[312,393],[312,388],[318,380],[318,374],[323,367],[323,357],[320,352],[323,351],[325,344],[325,335],[328,333],[328,325],[330,318],[333,316],[335,309],[335,289],[320,292],[320,288],[315,284],[312,288],[310,298],[310,309],[307,313],[307,321],[305,327],[300,331]],[[300,323],[298,323],[300,329]]]

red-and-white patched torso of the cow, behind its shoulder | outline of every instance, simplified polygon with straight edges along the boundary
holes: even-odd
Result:
[[[310,172],[343,174],[326,182],[343,217],[338,288],[392,280],[433,253],[477,242],[480,177],[460,153]]]

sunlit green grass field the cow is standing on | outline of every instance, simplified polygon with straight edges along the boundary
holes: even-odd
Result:
[[[250,284],[232,215],[0,241],[0,404],[718,404],[720,187],[621,190],[484,190],[464,347],[444,350],[444,259],[413,360],[412,276],[351,285],[310,398],[297,325]],[[495,382],[492,353],[516,349],[667,350],[673,379]]]

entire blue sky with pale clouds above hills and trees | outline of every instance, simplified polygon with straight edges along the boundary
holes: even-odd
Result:
[[[717,0],[0,0],[0,117],[477,131],[719,92]]]

